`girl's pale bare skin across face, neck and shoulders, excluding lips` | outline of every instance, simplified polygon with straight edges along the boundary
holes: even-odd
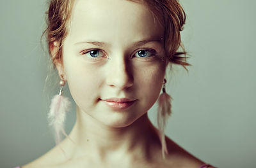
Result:
[[[164,29],[146,6],[123,0],[77,0],[68,29],[63,64],[55,64],[77,104],[77,120],[69,134],[72,141],[65,139],[61,148],[56,146],[25,168],[204,164],[168,137],[169,155],[163,160],[156,128],[148,120],[147,111],[159,96],[168,62],[161,40]],[[57,47],[51,48],[53,55]],[[138,57],[138,51],[148,48],[150,56]],[[90,57],[88,51],[95,49],[100,56]],[[112,97],[135,103],[114,110],[102,101]]]

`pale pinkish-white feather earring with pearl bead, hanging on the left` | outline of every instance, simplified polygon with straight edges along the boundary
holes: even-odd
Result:
[[[61,78],[63,78],[63,74],[61,74]],[[68,97],[64,97],[62,95],[64,85],[65,80],[61,79],[60,92],[58,95],[54,95],[54,97],[52,97],[50,111],[48,113],[49,126],[54,130],[56,144],[59,144],[62,139],[61,133],[67,137],[64,129],[64,122],[71,102]]]

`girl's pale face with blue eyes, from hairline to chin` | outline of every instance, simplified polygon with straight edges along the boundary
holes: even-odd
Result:
[[[163,32],[143,4],[77,0],[63,42],[63,74],[79,111],[111,127],[147,113],[163,86]]]

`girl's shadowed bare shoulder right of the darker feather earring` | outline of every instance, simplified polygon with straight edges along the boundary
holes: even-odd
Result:
[[[179,146],[179,144],[175,143],[168,137],[166,137],[166,145],[169,153],[166,157],[166,163],[170,165],[170,167],[200,168],[205,164],[204,161],[196,158],[194,155],[184,150],[181,146]]]

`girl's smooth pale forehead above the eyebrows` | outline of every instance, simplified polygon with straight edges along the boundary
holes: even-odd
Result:
[[[163,27],[145,4],[127,0],[76,0],[68,36],[99,41],[163,36]],[[120,40],[119,40],[120,41]]]

